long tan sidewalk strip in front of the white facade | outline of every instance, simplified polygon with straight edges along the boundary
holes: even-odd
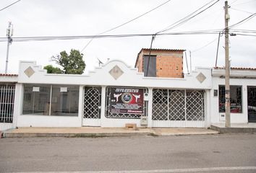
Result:
[[[16,128],[2,132],[5,138],[25,137],[111,137],[208,135],[218,131],[205,128]]]

